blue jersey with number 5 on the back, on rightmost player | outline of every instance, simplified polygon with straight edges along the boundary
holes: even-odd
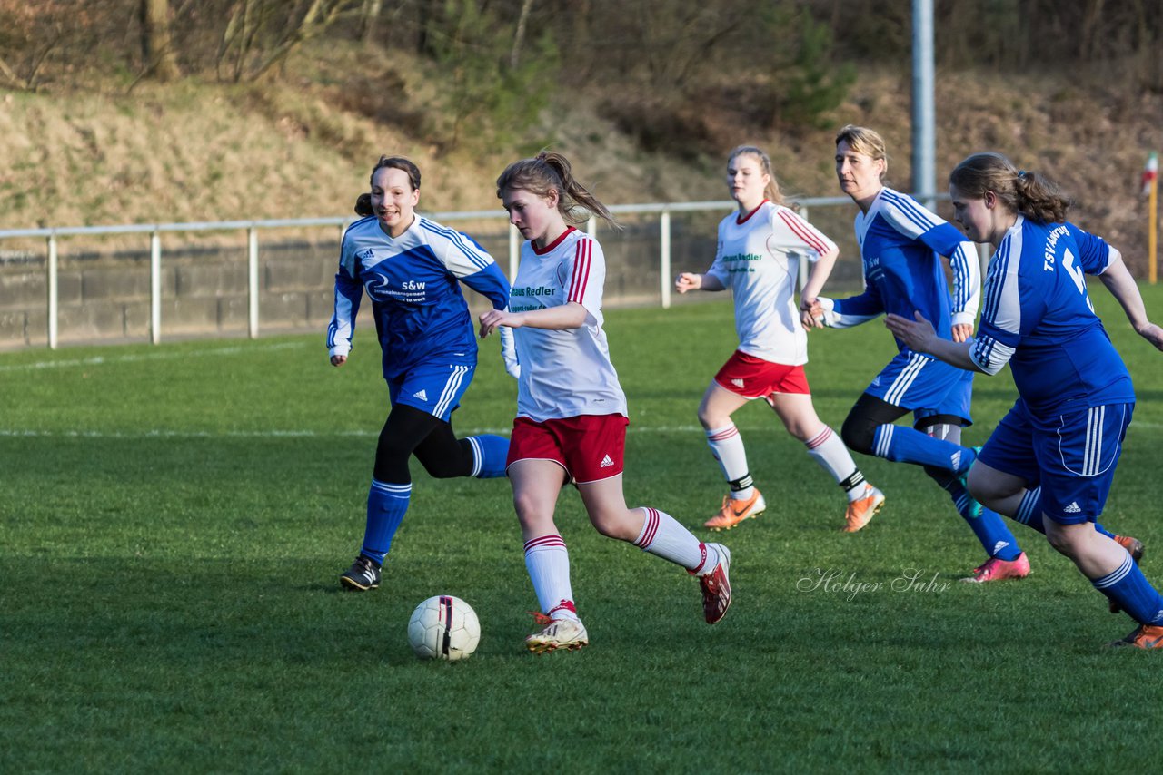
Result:
[[[1072,223],[1021,215],[990,259],[982,325],[970,357],[989,374],[1006,363],[1037,416],[1133,403],[1134,388],[1086,293],[1112,249]]]

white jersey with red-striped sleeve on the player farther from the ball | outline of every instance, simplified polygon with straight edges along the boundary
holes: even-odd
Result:
[[[785,366],[807,363],[807,333],[795,303],[799,266],[835,247],[794,210],[768,200],[720,222],[719,250],[707,274],[735,296],[740,351]]]

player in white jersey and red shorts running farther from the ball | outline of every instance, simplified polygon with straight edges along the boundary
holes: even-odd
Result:
[[[848,494],[844,530],[859,530],[880,509],[884,495],[864,481],[844,443],[815,414],[804,373],[807,336],[794,299],[800,261],[815,264],[802,292],[804,297],[815,299],[840,249],[784,206],[771,159],[763,150],[740,145],[730,152],[727,188],[739,210],[719,224],[714,263],[702,274],[683,272],[675,281],[678,293],[730,288],[735,301],[739,349],[711,380],[699,404],[707,444],[730,488],[706,526],[729,530],[766,508],[732,422],[737,409],[764,399],[787,432],[804,443]]]

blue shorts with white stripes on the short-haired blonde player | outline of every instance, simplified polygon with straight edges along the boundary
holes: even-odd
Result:
[[[864,392],[912,411],[916,419],[955,415],[965,425],[973,423],[973,373],[916,352],[898,352]]]

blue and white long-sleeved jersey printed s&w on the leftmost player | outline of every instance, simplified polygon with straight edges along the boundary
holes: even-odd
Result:
[[[356,314],[366,290],[390,382],[434,360],[476,364],[477,337],[461,282],[497,309],[508,304],[509,284],[471,237],[422,215],[399,237],[376,217],[343,235],[335,275],[335,314],[327,329],[331,356],[351,351]]]

